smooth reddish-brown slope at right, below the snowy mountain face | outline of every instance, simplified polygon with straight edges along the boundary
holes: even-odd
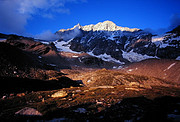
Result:
[[[148,59],[130,64],[123,69],[123,73],[151,76],[170,82],[180,83],[180,61],[170,59]]]

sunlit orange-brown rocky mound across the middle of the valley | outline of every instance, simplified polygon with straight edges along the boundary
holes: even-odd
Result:
[[[175,81],[167,81],[160,78],[155,78],[154,75],[143,75],[143,73],[137,73],[137,75],[134,75],[136,73],[122,73],[121,70],[74,70],[74,72],[72,70],[63,70],[62,72],[68,74],[67,76],[73,80],[82,81],[87,87],[113,87],[126,85],[151,89],[154,86],[170,87],[179,85]],[[179,75],[175,78],[177,77],[179,77]]]

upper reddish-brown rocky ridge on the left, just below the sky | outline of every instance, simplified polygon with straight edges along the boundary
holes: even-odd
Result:
[[[41,42],[34,41],[34,39],[19,37],[16,35],[9,36],[4,42],[25,52],[36,55],[40,62],[42,61],[42,63],[45,63],[50,67],[57,69],[69,68],[68,62],[58,54],[53,43],[43,44]]]

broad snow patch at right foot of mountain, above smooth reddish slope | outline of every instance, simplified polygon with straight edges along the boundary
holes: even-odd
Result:
[[[138,54],[133,52],[132,50],[130,52],[125,52],[122,50],[122,52],[123,52],[122,54],[123,58],[127,59],[130,62],[139,62],[145,59],[156,58],[154,56]]]

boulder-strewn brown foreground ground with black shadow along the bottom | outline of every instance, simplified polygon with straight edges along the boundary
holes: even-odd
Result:
[[[0,100],[0,118],[2,121],[174,121],[180,114],[179,95],[177,87],[148,89],[126,85],[21,93]]]

